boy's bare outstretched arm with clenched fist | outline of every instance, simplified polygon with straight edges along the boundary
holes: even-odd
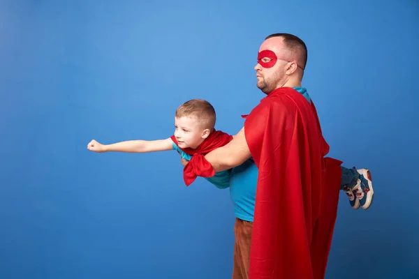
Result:
[[[114,144],[101,144],[96,140],[91,140],[87,144],[87,149],[97,153],[102,152],[127,152],[127,153],[145,153],[156,151],[172,150],[172,139],[166,140],[128,140],[125,142],[116,142]]]

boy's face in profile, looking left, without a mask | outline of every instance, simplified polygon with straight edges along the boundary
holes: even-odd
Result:
[[[180,148],[196,149],[210,135],[198,119],[175,117],[175,137]]]

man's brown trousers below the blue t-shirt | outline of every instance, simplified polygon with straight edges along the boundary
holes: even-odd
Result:
[[[253,223],[236,218],[232,279],[249,279],[249,257]]]

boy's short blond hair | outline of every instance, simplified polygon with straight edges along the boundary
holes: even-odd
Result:
[[[203,128],[214,129],[216,114],[214,107],[206,100],[192,99],[177,107],[175,117],[190,117],[200,121]]]

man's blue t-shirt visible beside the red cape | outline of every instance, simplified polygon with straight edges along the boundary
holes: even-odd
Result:
[[[311,103],[307,89],[304,87],[294,87],[294,89],[302,93],[306,100]],[[257,184],[258,168],[253,159],[249,159],[231,170],[230,197],[234,204],[235,217],[253,222]]]

